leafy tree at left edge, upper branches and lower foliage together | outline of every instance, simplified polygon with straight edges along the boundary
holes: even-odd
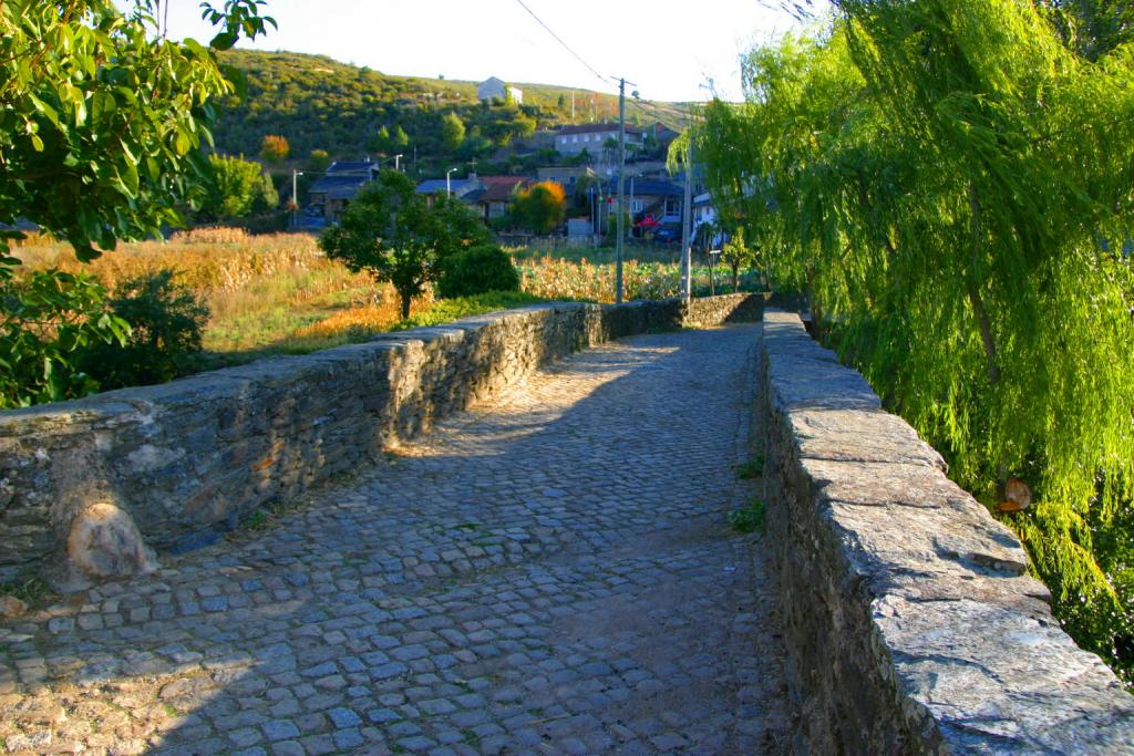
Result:
[[[0,223],[18,218],[69,241],[79,260],[118,239],[158,236],[204,194],[217,97],[243,78],[218,51],[274,22],[257,0],[202,3],[219,26],[204,46],[166,40],[139,0],[127,15],[110,0],[0,3]],[[66,50],[66,54],[59,51]],[[15,280],[12,231],[0,232],[0,396],[6,406],[82,396],[96,382],[77,350],[121,341],[86,275],[37,271]]]

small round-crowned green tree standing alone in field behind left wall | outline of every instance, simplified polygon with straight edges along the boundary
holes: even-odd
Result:
[[[404,173],[382,171],[352,202],[337,228],[319,239],[332,260],[354,272],[389,281],[398,292],[401,316],[414,297],[437,279],[439,261],[486,240],[488,230],[455,199],[430,207]]]

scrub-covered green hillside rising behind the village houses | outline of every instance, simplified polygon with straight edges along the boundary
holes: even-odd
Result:
[[[229,154],[255,155],[264,135],[280,134],[296,162],[325,150],[332,159],[400,152],[411,163],[416,150],[417,168],[429,170],[446,160],[505,160],[515,139],[573,122],[573,91],[565,87],[515,83],[524,103],[490,108],[477,102],[474,82],[390,76],[293,52],[234,50],[223,61],[248,82],[246,99],[226,103],[215,130],[217,148]],[[617,118],[617,95],[574,93],[574,122]],[[629,124],[679,127],[685,113],[682,104],[627,100]],[[459,117],[464,138],[446,131],[449,114]]]

